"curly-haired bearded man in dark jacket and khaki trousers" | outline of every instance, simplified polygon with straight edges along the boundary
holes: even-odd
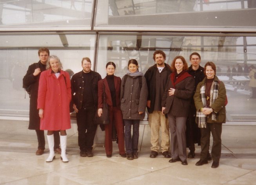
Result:
[[[165,90],[167,79],[171,74],[171,67],[165,63],[165,53],[162,50],[156,50],[153,54],[155,65],[151,66],[145,73],[148,88],[147,110],[149,117],[149,126],[151,128],[151,153],[150,157],[155,158],[158,155],[159,130],[161,127],[162,141],[161,151],[165,158],[170,158],[170,135],[168,119],[162,115],[162,96]]]

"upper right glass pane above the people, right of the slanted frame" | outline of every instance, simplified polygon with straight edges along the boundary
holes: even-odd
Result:
[[[248,2],[248,3],[247,3]],[[256,27],[252,0],[98,0],[96,27]],[[133,27],[133,28],[131,28]],[[234,31],[234,30],[233,30]]]

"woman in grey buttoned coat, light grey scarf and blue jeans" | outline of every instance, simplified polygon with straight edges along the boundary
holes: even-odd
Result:
[[[125,124],[125,150],[128,160],[138,158],[138,141],[140,120],[145,117],[147,105],[147,83],[142,72],[138,71],[138,62],[128,62],[127,74],[121,84],[121,110]],[[133,125],[133,137],[131,126]]]

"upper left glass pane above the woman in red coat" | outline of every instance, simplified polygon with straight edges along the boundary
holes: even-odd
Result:
[[[93,0],[0,2],[0,27],[91,27]]]

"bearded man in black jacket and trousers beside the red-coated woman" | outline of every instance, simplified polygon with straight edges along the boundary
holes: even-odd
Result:
[[[97,125],[93,118],[98,105],[98,81],[100,74],[91,70],[91,60],[82,58],[81,72],[72,76],[72,103],[76,111],[78,145],[81,157],[93,157],[93,141]]]

